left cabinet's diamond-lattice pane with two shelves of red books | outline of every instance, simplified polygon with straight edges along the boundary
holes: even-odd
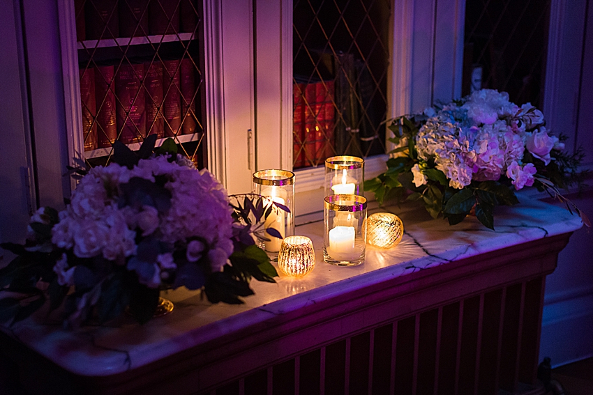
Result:
[[[107,164],[116,140],[136,150],[157,134],[205,166],[199,10],[196,0],[75,0],[87,164]]]

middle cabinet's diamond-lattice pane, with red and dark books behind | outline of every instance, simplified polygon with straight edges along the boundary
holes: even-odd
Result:
[[[385,153],[391,1],[293,6],[293,167]]]

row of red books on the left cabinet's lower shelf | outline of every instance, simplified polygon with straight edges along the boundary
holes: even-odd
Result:
[[[191,59],[80,69],[84,150],[195,132]],[[199,106],[198,106],[199,107]]]

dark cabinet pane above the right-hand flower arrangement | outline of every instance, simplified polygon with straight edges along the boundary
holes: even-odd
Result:
[[[467,0],[463,95],[491,88],[541,108],[549,19],[550,0]]]

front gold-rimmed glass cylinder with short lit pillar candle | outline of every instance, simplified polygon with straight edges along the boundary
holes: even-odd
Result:
[[[360,265],[366,248],[366,199],[353,194],[325,196],[323,259],[338,266]]]

